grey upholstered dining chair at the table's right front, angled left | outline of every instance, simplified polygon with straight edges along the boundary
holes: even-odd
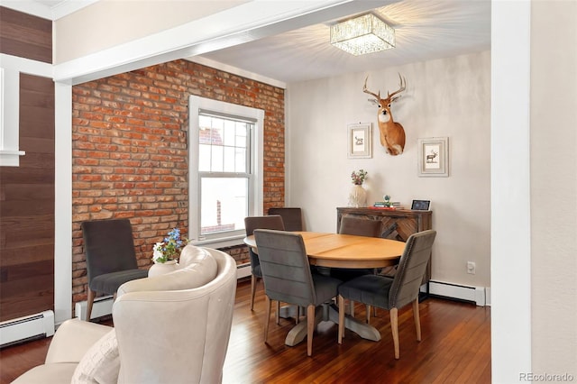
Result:
[[[414,233],[409,236],[405,251],[403,251],[398,262],[398,269],[394,279],[379,275],[365,275],[346,281],[339,287],[339,343],[343,341],[345,298],[362,302],[368,306],[379,306],[389,310],[395,359],[398,359],[400,355],[398,346],[398,309],[412,303],[417,341],[421,341],[418,291],[426,272],[426,264],[431,257],[431,248],[433,247],[433,242],[435,242],[435,236],[436,232],[433,230]],[[367,307],[367,315],[370,312],[370,308]]]

